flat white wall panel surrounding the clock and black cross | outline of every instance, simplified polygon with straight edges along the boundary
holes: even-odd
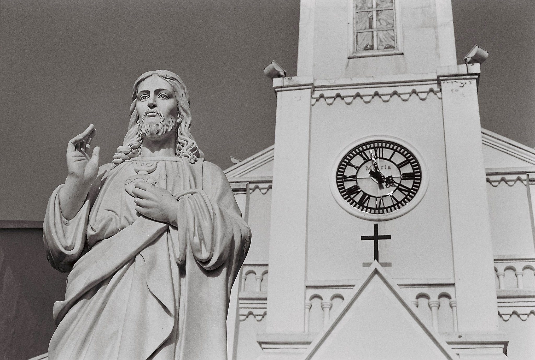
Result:
[[[425,129],[425,136],[422,136]],[[379,223],[381,262],[392,262],[387,272],[396,278],[453,277],[449,232],[448,194],[441,101],[392,97],[351,105],[335,100],[312,107],[310,140],[310,190],[307,244],[309,280],[358,278],[373,261],[373,241],[361,236],[373,232],[372,222],[348,214],[334,200],[329,182],[334,181],[335,158],[351,142],[370,135],[404,139],[422,154],[429,169],[429,187],[416,208],[394,220]],[[313,161],[312,161],[313,160]]]

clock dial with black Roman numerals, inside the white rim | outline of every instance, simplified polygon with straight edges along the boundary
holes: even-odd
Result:
[[[406,147],[374,140],[352,148],[336,173],[342,198],[369,214],[387,214],[411,201],[422,183],[418,160]]]

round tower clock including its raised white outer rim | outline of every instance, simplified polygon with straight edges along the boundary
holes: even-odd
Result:
[[[389,220],[414,208],[427,186],[427,172],[415,148],[401,139],[358,140],[334,163],[331,192],[347,212],[366,220]]]

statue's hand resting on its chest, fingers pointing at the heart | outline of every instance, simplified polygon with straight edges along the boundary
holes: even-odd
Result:
[[[136,195],[134,202],[138,213],[152,220],[177,226],[178,201],[169,191],[139,181],[132,193]]]

